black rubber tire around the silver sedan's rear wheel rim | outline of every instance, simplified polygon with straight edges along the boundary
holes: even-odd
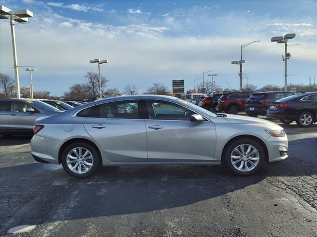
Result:
[[[86,173],[83,173],[83,174],[75,173],[74,171],[72,171],[68,167],[67,161],[66,161],[68,153],[72,149],[77,148],[77,147],[82,147],[82,148],[87,149],[91,153],[91,155],[93,156],[93,165],[91,166],[91,168]],[[72,143],[72,144],[68,145],[64,149],[64,151],[62,152],[61,163],[63,165],[64,170],[70,176],[75,177],[75,178],[88,178],[88,177],[92,176],[97,171],[98,167],[101,164],[101,157],[99,155],[99,152],[96,150],[96,148],[94,146],[92,146],[90,144],[87,144],[87,143],[84,143],[84,142],[75,142],[75,143]]]

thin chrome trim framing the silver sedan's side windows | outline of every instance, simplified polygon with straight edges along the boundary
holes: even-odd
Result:
[[[169,101],[169,100],[166,100],[166,99],[145,99],[145,98],[142,98],[142,99],[134,99],[134,100],[161,100],[161,101],[165,101],[165,102],[170,102],[170,103],[173,103],[173,102],[171,102],[171,101]],[[91,106],[88,106],[88,107],[85,107],[85,108],[83,108],[83,109],[80,109],[79,111],[77,111],[77,112],[75,112],[74,114],[72,114],[72,116],[71,117],[73,117],[73,118],[94,118],[94,117],[78,117],[77,116],[77,114],[79,113],[79,112],[81,112],[81,111],[83,111],[83,110],[86,110],[86,109],[88,109],[88,108],[90,108],[90,107],[93,107],[93,106],[97,106],[97,105],[102,105],[102,104],[106,104],[106,103],[112,103],[112,102],[119,102],[119,101],[127,101],[127,100],[116,100],[116,101],[110,101],[110,102],[105,102],[105,103],[100,103],[100,104],[94,104],[94,105],[91,105]],[[181,104],[178,104],[178,103],[175,103],[175,104],[177,104],[177,105],[179,105],[179,106],[183,106],[183,105],[181,105]],[[184,107],[184,106],[183,106]],[[197,114],[197,115],[201,115],[203,118],[205,118],[207,121],[209,121],[209,122],[212,122],[209,118],[206,118],[205,116],[203,116],[202,114],[200,114],[200,113],[198,113],[197,111],[193,111],[192,109],[190,109],[190,108],[188,108],[188,107],[186,107],[185,106],[185,108],[186,109],[188,109],[188,110],[190,110],[190,111],[192,111],[192,112],[194,112],[195,114]],[[94,118],[94,119],[97,119],[97,118]],[[153,121],[184,121],[184,122],[190,122],[190,120],[155,120],[155,119],[142,119],[142,118],[99,118],[99,119],[128,119],[128,120],[153,120]]]

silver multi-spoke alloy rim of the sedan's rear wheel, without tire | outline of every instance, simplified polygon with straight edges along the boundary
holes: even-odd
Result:
[[[94,164],[94,157],[84,147],[76,147],[70,150],[66,157],[68,168],[77,174],[87,173]]]

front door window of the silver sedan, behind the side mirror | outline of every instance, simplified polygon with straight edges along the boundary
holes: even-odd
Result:
[[[195,114],[185,107],[166,101],[147,101],[147,108],[150,119],[154,120],[189,121]]]

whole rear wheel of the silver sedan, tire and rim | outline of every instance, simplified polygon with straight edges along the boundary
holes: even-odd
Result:
[[[68,145],[61,157],[64,170],[75,178],[88,178],[100,165],[98,151],[90,144],[75,142]]]

